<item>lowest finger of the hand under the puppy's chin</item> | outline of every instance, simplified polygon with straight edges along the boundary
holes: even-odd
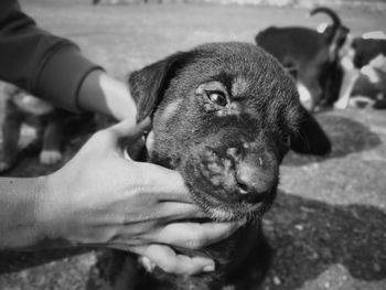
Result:
[[[213,271],[215,268],[214,261],[210,258],[179,255],[164,245],[136,247],[132,251],[149,258],[165,272],[195,275],[203,271]]]

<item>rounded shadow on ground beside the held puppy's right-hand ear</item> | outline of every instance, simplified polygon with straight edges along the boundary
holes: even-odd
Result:
[[[318,120],[330,137],[332,152],[324,157],[301,155],[290,152],[283,164],[304,165],[333,158],[344,158],[351,153],[369,150],[382,144],[379,137],[369,128],[351,118],[331,114],[318,115]]]

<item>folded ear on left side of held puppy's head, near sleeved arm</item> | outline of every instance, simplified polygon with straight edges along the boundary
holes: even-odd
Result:
[[[191,52],[179,52],[130,74],[128,83],[137,104],[138,121],[152,116],[170,80],[192,56]]]

